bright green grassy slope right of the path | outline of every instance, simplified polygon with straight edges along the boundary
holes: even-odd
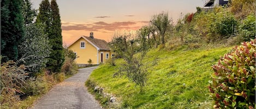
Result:
[[[148,80],[142,92],[127,78],[113,76],[122,59],[116,60],[117,66],[99,66],[89,79],[104,87],[104,92],[115,95],[121,108],[212,108],[211,99],[205,95],[209,93],[211,65],[230,49],[150,50],[144,62],[152,66],[148,67]]]

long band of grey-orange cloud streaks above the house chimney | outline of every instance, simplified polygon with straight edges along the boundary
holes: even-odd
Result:
[[[62,30],[85,30],[85,31],[115,31],[115,30],[137,30],[142,27],[145,21],[126,21],[126,22],[95,22],[90,24],[62,23]]]

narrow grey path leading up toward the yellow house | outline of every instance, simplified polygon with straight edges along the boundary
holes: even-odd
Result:
[[[77,74],[54,86],[32,108],[100,108],[99,103],[84,86],[88,76],[95,68],[97,67],[79,69]]]

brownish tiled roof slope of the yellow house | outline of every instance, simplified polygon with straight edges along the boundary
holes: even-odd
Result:
[[[83,37],[91,41],[93,44],[95,44],[95,46],[97,46],[99,50],[110,50],[108,46],[108,42],[106,42],[105,40],[100,40],[95,38],[92,39],[91,37],[87,37],[87,36],[83,36]]]

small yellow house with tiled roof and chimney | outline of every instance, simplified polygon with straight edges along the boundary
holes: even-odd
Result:
[[[90,33],[90,37],[81,36],[78,40],[75,40],[68,46],[68,49],[73,50],[76,54],[76,64],[78,65],[98,65],[111,58],[108,42],[95,39],[92,32]],[[88,63],[90,59],[92,61]]]

